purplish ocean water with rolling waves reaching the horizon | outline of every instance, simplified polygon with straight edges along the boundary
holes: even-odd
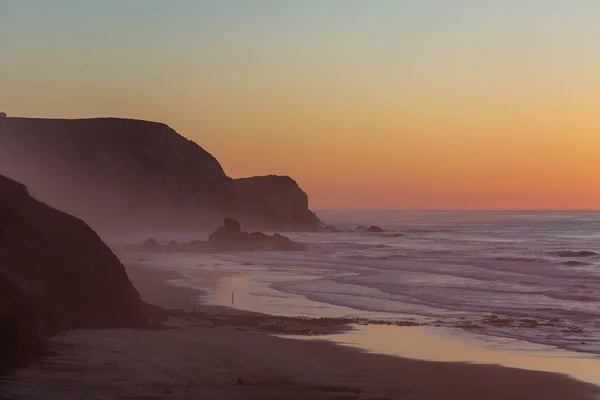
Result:
[[[242,271],[243,283],[231,278],[231,287],[213,290],[209,300],[217,304],[230,301],[229,294],[219,299],[223,292],[243,285],[236,304],[241,308],[412,319],[600,354],[600,213],[319,216],[344,232],[288,234],[308,244],[304,252],[189,256],[179,265],[188,272]],[[373,224],[385,231],[353,231]]]

